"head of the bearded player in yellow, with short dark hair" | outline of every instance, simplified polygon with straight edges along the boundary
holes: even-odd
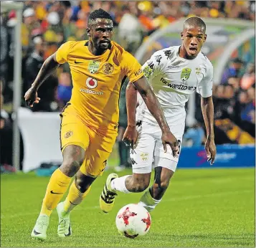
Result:
[[[96,9],[88,18],[87,35],[95,49],[106,50],[113,36],[113,20],[108,12]]]

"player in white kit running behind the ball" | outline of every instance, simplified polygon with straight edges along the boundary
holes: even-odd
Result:
[[[126,90],[128,128],[123,140],[131,146],[133,175],[108,176],[100,196],[104,212],[113,208],[118,191],[124,193],[145,191],[150,183],[152,168],[155,170],[153,186],[145,191],[139,204],[152,211],[161,201],[179,161],[182,136],[185,128],[185,103],[194,91],[201,95],[202,114],[207,130],[205,149],[208,161],[214,163],[214,107],[212,102],[213,67],[201,48],[207,39],[206,25],[202,19],[191,17],[184,22],[181,46],[155,52],[142,67],[175,138],[179,151],[173,156],[169,146],[161,142],[161,129],[148,111],[142,98],[138,99],[134,85]],[[189,163],[189,158],[188,158]],[[101,201],[103,202],[103,201]]]

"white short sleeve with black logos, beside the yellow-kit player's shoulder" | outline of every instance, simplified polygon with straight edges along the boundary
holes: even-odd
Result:
[[[152,80],[156,75],[163,71],[164,57],[161,51],[155,52],[148,61],[142,66],[144,76]]]

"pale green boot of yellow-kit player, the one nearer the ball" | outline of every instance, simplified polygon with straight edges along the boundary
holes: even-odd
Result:
[[[61,238],[65,238],[72,234],[70,224],[70,213],[64,211],[64,201],[57,205],[57,213],[59,216],[58,235]]]

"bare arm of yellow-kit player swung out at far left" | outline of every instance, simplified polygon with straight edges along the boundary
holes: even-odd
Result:
[[[56,61],[56,54],[52,54],[49,56],[42,65],[41,69],[38,72],[38,75],[34,82],[32,83],[32,86],[27,90],[27,92],[24,95],[25,101],[27,102],[27,105],[30,107],[33,107],[34,103],[38,103],[40,98],[37,97],[37,90],[39,89],[40,85],[44,82],[44,80],[49,77],[49,75],[52,75],[52,73],[59,67],[60,64]]]

